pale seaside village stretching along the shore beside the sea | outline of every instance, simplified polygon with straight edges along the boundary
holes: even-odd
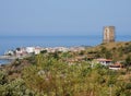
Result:
[[[84,47],[48,47],[48,48],[43,48],[43,47],[22,47],[22,48],[16,48],[15,50],[9,50],[4,53],[4,56],[27,56],[27,55],[38,55],[43,50],[46,50],[47,52],[56,52],[56,51],[61,51],[61,52],[68,52],[68,51],[82,51],[85,50]]]

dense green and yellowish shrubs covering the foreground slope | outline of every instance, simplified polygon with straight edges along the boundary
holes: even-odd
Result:
[[[130,43],[126,47],[107,48],[105,45],[80,52],[41,51],[23,60],[16,59],[0,70],[0,96],[130,96],[130,69],[114,71],[102,64],[92,67],[88,57],[75,61],[75,64],[67,61],[86,55],[110,58],[121,48],[129,49]],[[124,56],[127,51],[121,52]],[[127,68],[131,65],[129,53],[130,49],[124,56]],[[115,57],[118,59],[119,55],[111,58]]]

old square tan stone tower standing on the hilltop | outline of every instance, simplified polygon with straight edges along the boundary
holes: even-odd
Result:
[[[115,26],[105,26],[103,43],[114,43],[114,41],[115,41]]]

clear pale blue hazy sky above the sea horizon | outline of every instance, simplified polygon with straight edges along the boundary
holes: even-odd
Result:
[[[0,0],[0,35],[131,34],[131,0]]]

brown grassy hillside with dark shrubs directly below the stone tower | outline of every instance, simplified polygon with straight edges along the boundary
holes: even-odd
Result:
[[[109,58],[115,61],[126,60],[131,55],[131,41],[100,44],[87,48],[87,55],[94,58]]]

